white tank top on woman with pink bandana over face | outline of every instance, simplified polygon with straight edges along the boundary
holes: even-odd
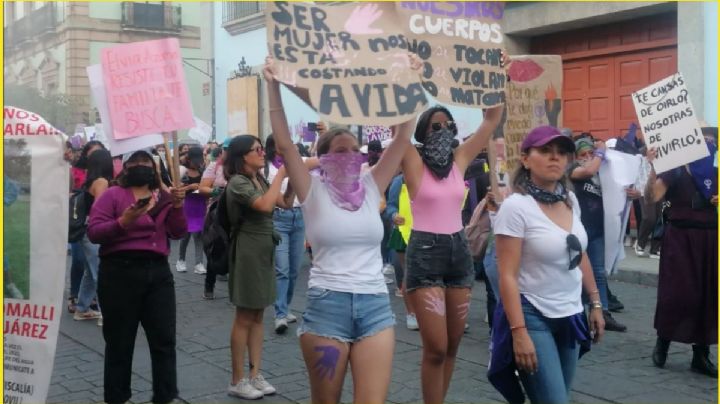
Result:
[[[351,212],[335,205],[319,176],[311,175],[302,203],[305,236],[313,249],[308,287],[349,293],[387,293],[380,244],[380,191],[370,173],[361,177],[365,200]]]

